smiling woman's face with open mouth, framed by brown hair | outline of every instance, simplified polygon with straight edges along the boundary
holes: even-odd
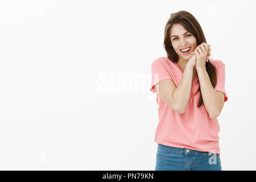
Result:
[[[179,23],[172,26],[170,36],[172,47],[174,47],[179,59],[189,60],[193,51],[197,47],[195,36],[185,30],[185,28]],[[181,49],[184,50],[188,47],[190,47],[189,51],[181,52]]]

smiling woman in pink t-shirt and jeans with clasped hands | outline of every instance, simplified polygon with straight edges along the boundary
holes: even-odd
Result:
[[[172,13],[164,32],[167,57],[151,65],[159,123],[155,170],[222,170],[217,117],[224,102],[225,64],[209,59],[196,18]]]

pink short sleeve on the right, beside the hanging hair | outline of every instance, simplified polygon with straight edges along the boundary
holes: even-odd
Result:
[[[220,61],[218,68],[216,69],[217,84],[214,88],[216,91],[224,93],[224,102],[228,100],[228,96],[225,92],[225,64]]]

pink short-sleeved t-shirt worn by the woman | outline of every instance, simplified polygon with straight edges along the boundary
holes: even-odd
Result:
[[[228,100],[225,92],[225,64],[221,60],[209,59],[217,69],[216,91],[225,94],[224,102]],[[176,86],[179,85],[183,72],[177,63],[172,62],[166,57],[159,57],[151,65],[152,82],[150,91],[156,93],[158,103],[159,123],[156,128],[155,142],[171,147],[190,148],[197,151],[206,151],[220,154],[219,137],[220,125],[217,118],[211,119],[204,103],[197,107],[200,93],[199,78],[192,81],[191,97],[183,114],[178,114],[172,110],[160,98],[155,84],[160,81],[171,79]]]

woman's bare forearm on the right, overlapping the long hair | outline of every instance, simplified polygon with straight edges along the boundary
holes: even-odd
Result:
[[[200,90],[205,109],[208,111],[210,118],[215,118],[220,113],[221,100],[216,90],[214,90],[206,68],[197,68],[199,77]]]

